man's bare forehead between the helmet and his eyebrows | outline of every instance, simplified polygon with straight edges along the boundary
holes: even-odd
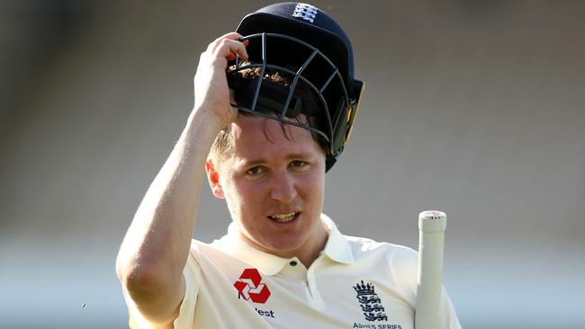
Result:
[[[316,156],[323,154],[308,129],[281,124],[255,115],[238,115],[232,123],[233,156],[238,161],[269,160],[293,154]]]

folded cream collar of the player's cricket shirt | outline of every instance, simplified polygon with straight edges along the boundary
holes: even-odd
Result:
[[[321,221],[329,231],[327,244],[323,250],[329,259],[334,262],[346,264],[354,263],[354,256],[347,238],[343,236],[335,225],[333,220],[325,214],[321,214]],[[266,275],[275,275],[283,270],[284,265],[290,262],[290,259],[275,256],[271,253],[265,253],[257,250],[251,245],[242,241],[238,234],[238,224],[232,222],[228,227],[228,234],[216,240],[212,245],[217,245],[226,253],[229,253],[238,259],[255,266],[259,271]]]

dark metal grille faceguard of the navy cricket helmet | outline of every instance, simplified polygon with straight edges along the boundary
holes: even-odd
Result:
[[[240,39],[244,40],[248,40],[246,64],[239,58],[229,63],[228,83],[238,102],[231,105],[239,111],[309,129],[320,135],[327,141],[326,170],[329,171],[351,135],[364,84],[353,80],[352,89],[348,89],[329,58],[302,40],[276,33],[252,34]],[[238,74],[257,67],[258,76],[279,73],[290,77],[291,82],[283,86],[264,79],[246,79]],[[297,93],[300,85],[314,93],[317,108],[314,108],[314,102],[308,106],[308,100]],[[350,97],[348,92],[355,96]],[[300,114],[305,118],[297,118]],[[319,127],[307,123],[311,122],[309,117],[320,122]]]

